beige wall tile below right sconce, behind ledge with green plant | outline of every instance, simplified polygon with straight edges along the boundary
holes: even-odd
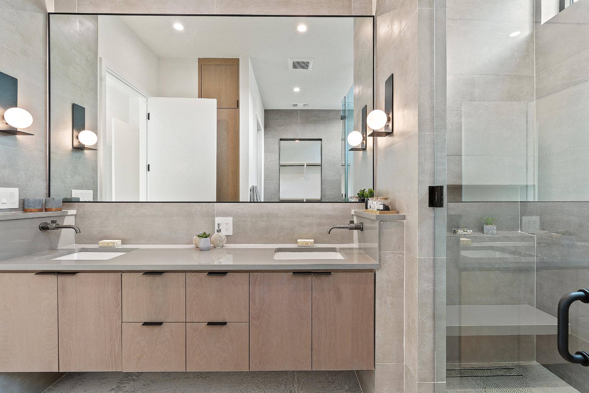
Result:
[[[380,151],[376,156],[376,191],[391,198],[391,207],[406,214],[405,252],[418,252],[418,134]],[[403,187],[399,187],[403,184]]]

